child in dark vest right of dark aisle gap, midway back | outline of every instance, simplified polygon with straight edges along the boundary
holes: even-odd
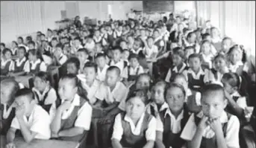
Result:
[[[174,48],[172,51],[172,68],[166,74],[166,82],[172,82],[177,74],[181,74],[187,65],[184,63],[185,54],[181,48]]]

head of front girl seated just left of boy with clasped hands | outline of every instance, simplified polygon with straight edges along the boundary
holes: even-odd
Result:
[[[164,97],[172,112],[181,112],[184,106],[186,91],[180,84],[170,83],[166,86]]]

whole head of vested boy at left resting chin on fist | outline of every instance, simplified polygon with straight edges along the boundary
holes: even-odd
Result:
[[[78,91],[78,77],[75,74],[66,74],[60,78],[58,94],[61,100],[72,101]]]

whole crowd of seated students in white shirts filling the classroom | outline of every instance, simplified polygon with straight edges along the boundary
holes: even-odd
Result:
[[[235,30],[234,30],[235,31]],[[238,35],[238,34],[237,34]],[[96,148],[239,148],[255,60],[210,21],[81,23],[1,42],[1,135]],[[253,111],[254,110],[254,111]]]

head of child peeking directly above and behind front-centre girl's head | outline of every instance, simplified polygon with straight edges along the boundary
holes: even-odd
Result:
[[[151,83],[151,77],[149,74],[139,74],[135,82],[136,89],[149,89]]]

